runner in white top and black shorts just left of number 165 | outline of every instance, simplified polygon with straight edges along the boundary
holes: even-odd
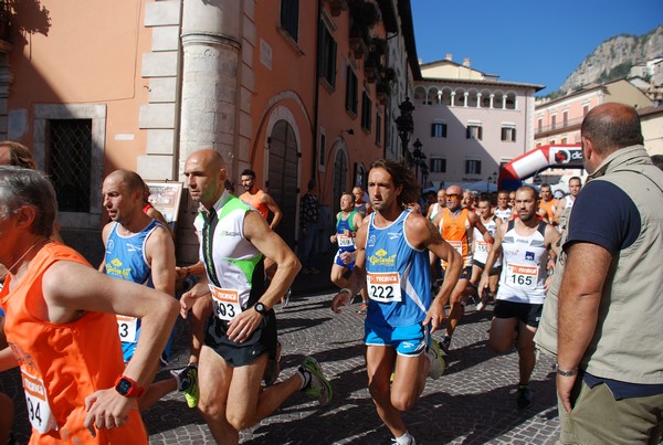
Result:
[[[508,193],[504,193],[504,201],[508,200]],[[482,194],[478,197],[478,204],[476,206],[481,223],[491,232],[491,235],[495,237],[497,229],[502,225],[502,220],[493,214],[493,205],[491,205],[491,195]],[[509,212],[511,213],[511,212]],[[472,251],[472,279],[470,283],[474,286],[478,285],[481,274],[486,266],[486,259],[488,258],[488,244],[482,239],[481,232],[474,227],[474,248]],[[497,280],[502,273],[502,258],[497,258],[495,265],[488,273],[488,289],[487,292],[477,290],[481,301],[476,305],[476,310],[483,310],[486,304],[491,301],[495,295],[497,295]]]

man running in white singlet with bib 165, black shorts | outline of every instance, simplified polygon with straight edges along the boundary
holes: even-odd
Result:
[[[493,311],[488,345],[497,353],[506,353],[514,346],[517,331],[519,409],[532,405],[529,377],[536,362],[534,335],[546,298],[548,250],[556,250],[559,233],[536,218],[536,190],[529,186],[516,191],[515,211],[518,218],[497,230],[495,245],[488,254],[478,285],[490,287],[488,271],[503,256],[497,301]],[[550,271],[551,272],[551,271]]]

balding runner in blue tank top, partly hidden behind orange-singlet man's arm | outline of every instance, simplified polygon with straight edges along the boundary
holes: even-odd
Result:
[[[105,261],[101,271],[106,275],[156,288],[175,297],[175,243],[168,229],[144,212],[145,182],[135,172],[115,170],[102,186],[103,205],[110,216],[102,237]],[[117,326],[125,363],[136,352],[141,332],[141,320],[117,316]],[[161,361],[167,363],[172,335]],[[152,380],[159,370],[159,360],[151,364]],[[175,390],[185,391],[190,406],[198,403],[194,365],[185,368],[172,379],[149,385],[139,398],[141,411],[156,404],[164,395]]]

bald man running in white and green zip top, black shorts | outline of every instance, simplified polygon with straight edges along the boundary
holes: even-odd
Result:
[[[191,198],[201,204],[194,225],[207,279],[182,295],[182,316],[197,298],[213,304],[200,351],[198,406],[218,443],[238,443],[240,430],[270,415],[297,390],[324,405],[333,388],[309,357],[285,381],[261,388],[267,357],[276,348],[273,307],[301,265],[257,212],[224,190],[225,163],[218,151],[190,155],[185,176]],[[278,265],[266,289],[263,255]]]

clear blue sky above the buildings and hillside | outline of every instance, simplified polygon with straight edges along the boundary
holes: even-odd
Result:
[[[585,57],[618,34],[663,24],[663,0],[411,0],[417,53],[423,63],[453,54],[502,81],[557,89]],[[663,54],[663,49],[661,51]]]

